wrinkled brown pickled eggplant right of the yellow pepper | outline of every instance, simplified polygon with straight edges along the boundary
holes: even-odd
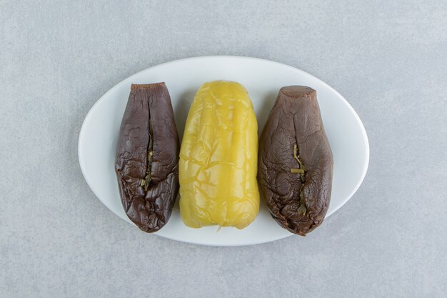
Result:
[[[291,172],[301,168],[293,157],[294,146],[306,169],[302,176]],[[281,88],[258,151],[259,190],[273,219],[301,236],[316,229],[328,211],[332,174],[333,156],[316,91],[306,86]]]

